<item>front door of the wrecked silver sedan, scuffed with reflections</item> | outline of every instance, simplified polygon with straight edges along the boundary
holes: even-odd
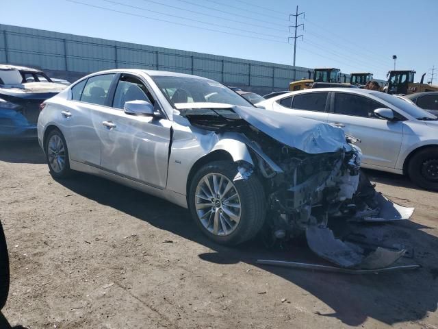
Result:
[[[120,75],[112,108],[105,109],[99,122],[103,131],[101,167],[137,182],[165,188],[171,122],[150,90],[140,77]],[[134,100],[153,103],[156,115],[125,113],[125,102]]]

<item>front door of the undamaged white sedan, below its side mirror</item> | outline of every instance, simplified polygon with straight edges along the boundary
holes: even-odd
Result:
[[[353,93],[336,92],[331,101],[329,123],[342,127],[346,134],[361,139],[364,164],[396,167],[402,145],[402,122],[375,116],[376,108],[387,108],[378,101]]]

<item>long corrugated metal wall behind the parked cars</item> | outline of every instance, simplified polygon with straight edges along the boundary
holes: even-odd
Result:
[[[77,73],[115,68],[156,69],[272,90],[287,89],[294,77],[294,66],[289,65],[2,24],[0,62]],[[312,71],[298,66],[296,70],[297,80],[307,78],[308,71]]]

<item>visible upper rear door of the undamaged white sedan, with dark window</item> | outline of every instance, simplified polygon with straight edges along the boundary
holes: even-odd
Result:
[[[274,110],[287,112],[308,119],[327,122],[326,109],[329,106],[329,93],[300,93],[284,97],[274,103]]]

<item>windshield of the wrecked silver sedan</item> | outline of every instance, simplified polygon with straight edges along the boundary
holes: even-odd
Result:
[[[199,102],[253,106],[230,88],[213,80],[168,75],[155,75],[152,79],[174,108],[176,103]]]

